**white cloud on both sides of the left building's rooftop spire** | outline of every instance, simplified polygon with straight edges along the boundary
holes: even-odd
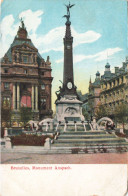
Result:
[[[32,37],[36,37],[36,30],[41,24],[41,16],[43,14],[42,10],[37,10],[32,12],[32,10],[26,10],[19,14],[19,18],[23,18],[27,31]],[[5,16],[1,22],[1,47],[0,57],[2,57],[5,52],[7,52],[10,44],[13,42],[13,39],[18,31],[18,26],[20,21],[15,23],[13,15]],[[38,36],[37,36],[38,37]],[[35,40],[36,43],[36,40]]]

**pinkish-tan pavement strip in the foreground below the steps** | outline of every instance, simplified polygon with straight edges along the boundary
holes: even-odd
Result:
[[[98,154],[1,153],[2,164],[128,164],[128,152]]]

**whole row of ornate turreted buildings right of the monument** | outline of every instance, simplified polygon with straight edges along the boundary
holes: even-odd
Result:
[[[83,107],[88,114],[95,116],[99,105],[104,105],[109,116],[114,118],[114,110],[120,103],[128,104],[128,58],[121,68],[115,67],[115,73],[110,70],[110,64],[105,65],[104,74],[96,73],[94,82],[89,82],[89,91],[83,100]],[[85,97],[85,95],[81,96]]]

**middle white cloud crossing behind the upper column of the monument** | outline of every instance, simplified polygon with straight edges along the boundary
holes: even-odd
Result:
[[[91,43],[98,40],[101,34],[95,31],[87,31],[85,33],[77,33],[72,27],[72,36],[75,37],[73,46],[76,47],[79,44]],[[63,37],[65,34],[65,26],[56,27],[50,30],[46,35],[39,37],[40,44],[43,45],[41,53],[48,52],[50,50],[63,51]]]

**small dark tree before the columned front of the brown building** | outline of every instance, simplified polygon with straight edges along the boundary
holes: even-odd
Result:
[[[20,108],[20,121],[23,123],[23,126],[29,121],[32,120],[32,109],[29,107]]]

